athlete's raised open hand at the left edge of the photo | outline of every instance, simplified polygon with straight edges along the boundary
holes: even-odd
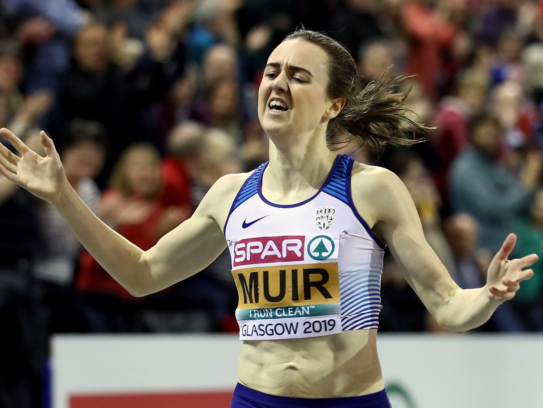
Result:
[[[43,200],[51,203],[58,201],[61,187],[67,180],[53,140],[45,132],[40,132],[41,144],[46,154],[42,157],[8,129],[0,129],[0,134],[8,139],[20,154],[20,157],[17,156],[0,143],[0,173]]]

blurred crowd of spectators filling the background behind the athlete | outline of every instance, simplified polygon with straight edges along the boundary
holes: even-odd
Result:
[[[514,257],[543,257],[537,0],[0,0],[0,126],[37,152],[45,129],[86,205],[146,250],[219,177],[267,160],[258,85],[302,24],[342,42],[367,83],[407,76],[412,118],[435,129],[408,129],[424,139],[409,148],[339,152],[401,178],[460,287],[484,285],[510,232]],[[0,231],[2,407],[40,406],[51,333],[237,331],[228,252],[132,298],[52,206],[2,176]],[[479,330],[543,330],[543,262],[533,270]],[[388,253],[382,303],[381,331],[442,331]]]

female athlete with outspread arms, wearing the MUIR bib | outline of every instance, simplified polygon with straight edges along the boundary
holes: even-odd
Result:
[[[85,206],[45,132],[41,157],[2,129],[20,157],[2,146],[0,171],[52,203],[134,296],[197,273],[228,246],[244,341],[232,408],[390,407],[376,349],[385,245],[432,316],[455,332],[486,322],[537,260],[508,261],[516,242],[509,234],[486,285],[460,289],[426,243],[399,178],[329,149],[342,135],[405,143],[396,137],[408,119],[395,81],[362,89],[336,41],[309,30],[287,36],[258,93],[269,163],[221,178],[194,215],[148,251]]]

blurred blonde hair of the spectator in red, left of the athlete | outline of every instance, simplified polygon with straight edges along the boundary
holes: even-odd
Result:
[[[111,177],[109,179],[109,188],[119,191],[124,197],[130,196],[134,191],[130,186],[130,181],[128,180],[128,162],[131,159],[132,154],[136,152],[149,153],[154,160],[156,160],[157,165],[160,166],[160,154],[156,150],[156,147],[146,142],[137,142],[128,146],[121,153],[121,157],[113,166],[113,171],[111,172]],[[147,199],[156,199],[160,196],[162,192],[162,178],[160,182],[156,184],[156,190],[154,194]]]

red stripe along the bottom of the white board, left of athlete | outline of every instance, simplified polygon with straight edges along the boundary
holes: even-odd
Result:
[[[233,392],[70,395],[70,408],[229,408]]]

